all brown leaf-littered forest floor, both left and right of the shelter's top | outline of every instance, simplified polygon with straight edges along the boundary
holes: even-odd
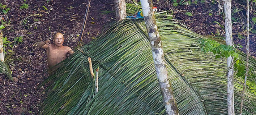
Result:
[[[24,3],[29,5],[28,9],[20,9]],[[166,0],[154,0],[154,3],[158,9],[170,10],[174,19],[182,20],[182,23],[200,35],[225,36],[222,27],[225,22],[223,14],[218,12],[217,3],[206,1],[176,7],[172,3],[166,3]],[[5,51],[15,52],[9,59],[9,65],[13,77],[18,80],[12,82],[3,74],[0,75],[0,115],[37,115],[47,84],[38,86],[47,78],[48,73],[46,51],[39,49],[36,44],[51,40],[56,32],[61,32],[65,38],[64,45],[74,50],[82,28],[87,0],[1,0],[1,4],[10,8],[7,14],[1,13],[0,17],[10,22],[3,31],[4,37],[12,42],[12,47],[5,47]],[[245,9],[241,6],[244,4],[237,5],[238,9]],[[82,40],[84,43],[90,42],[103,29],[107,29],[104,28],[106,25],[115,21],[112,0],[92,0],[90,6]],[[104,11],[111,13],[104,14]],[[192,16],[186,15],[187,12]],[[238,18],[239,15],[241,18]],[[233,37],[235,44],[244,46],[241,50],[245,51],[245,42],[239,38],[244,35],[246,18],[243,10],[239,15],[234,14],[237,22],[233,23]],[[252,27],[256,28],[255,25]],[[19,38],[23,39],[22,42],[18,42]],[[256,35],[251,34],[250,39],[250,54],[256,56]]]

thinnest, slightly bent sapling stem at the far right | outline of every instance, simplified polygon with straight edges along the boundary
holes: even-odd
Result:
[[[240,105],[240,115],[242,115],[243,110],[243,102],[244,102],[244,90],[246,88],[246,79],[248,75],[249,70],[249,0],[247,1],[246,10],[247,10],[247,40],[246,40],[246,75],[244,78],[244,87],[242,92],[242,99],[241,99],[241,105]]]

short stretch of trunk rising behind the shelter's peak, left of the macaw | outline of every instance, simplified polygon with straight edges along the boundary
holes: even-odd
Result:
[[[116,8],[116,21],[123,20],[126,17],[125,0],[114,0]]]

